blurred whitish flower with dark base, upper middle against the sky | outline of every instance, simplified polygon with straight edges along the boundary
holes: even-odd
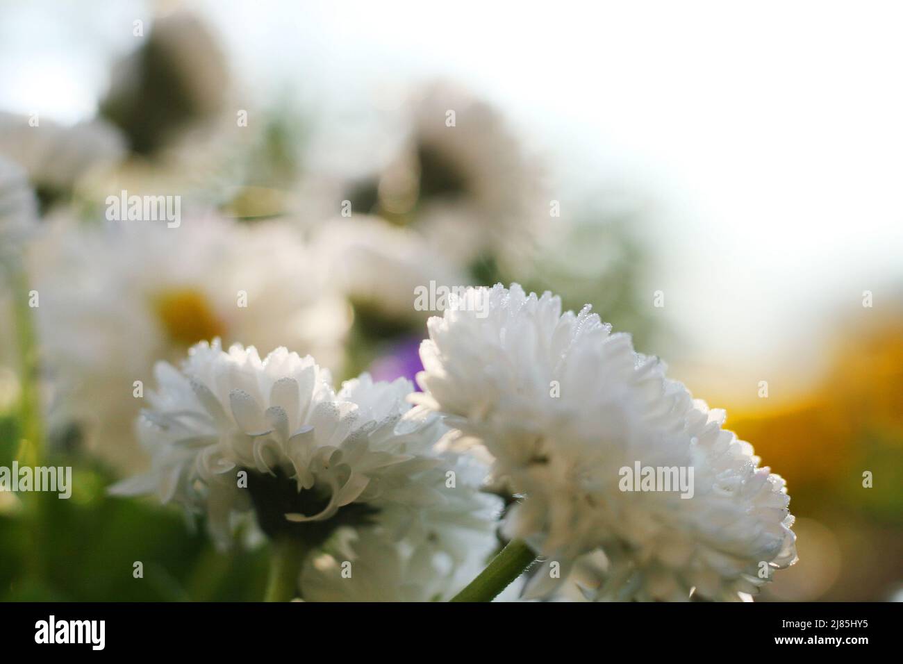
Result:
[[[446,83],[425,89],[412,107],[399,156],[375,181],[359,183],[356,209],[412,225],[458,265],[522,257],[549,201],[503,118]]]

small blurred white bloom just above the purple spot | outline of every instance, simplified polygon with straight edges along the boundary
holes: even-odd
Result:
[[[350,300],[402,320],[424,319],[414,309],[417,286],[455,286],[466,279],[424,239],[378,217],[355,215],[325,222],[312,245],[328,264],[330,282]]]

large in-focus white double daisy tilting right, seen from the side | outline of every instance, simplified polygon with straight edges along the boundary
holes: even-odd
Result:
[[[784,481],[721,428],[723,411],[694,401],[589,306],[562,314],[558,297],[517,284],[470,289],[429,331],[425,394],[412,398],[444,413],[460,440],[485,444],[494,474],[524,497],[505,531],[546,558],[528,596],[597,549],[600,599],[685,600],[693,589],[736,599],[765,582],[763,569],[795,560]],[[622,469],[636,464],[692,469],[692,498],[621,491]]]

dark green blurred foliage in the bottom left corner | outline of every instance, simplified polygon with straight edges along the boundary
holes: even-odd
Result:
[[[20,509],[0,514],[0,601],[260,599],[265,550],[219,552],[180,511],[109,497],[104,473],[76,474],[70,500],[19,494]]]

